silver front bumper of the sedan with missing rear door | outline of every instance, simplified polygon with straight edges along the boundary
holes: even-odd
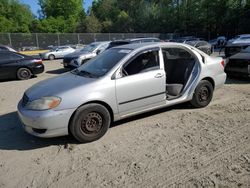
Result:
[[[23,128],[29,134],[37,137],[50,138],[68,135],[70,117],[75,109],[34,111],[18,104],[18,116]]]

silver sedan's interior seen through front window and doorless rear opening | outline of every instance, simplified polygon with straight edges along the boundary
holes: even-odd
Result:
[[[188,51],[181,48],[162,49],[166,72],[167,99],[181,96],[192,70],[195,58]],[[124,65],[123,76],[134,75],[160,68],[158,50],[142,53]]]

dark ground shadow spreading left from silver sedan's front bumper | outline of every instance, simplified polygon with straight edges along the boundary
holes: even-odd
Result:
[[[0,116],[0,150],[33,150],[51,145],[67,147],[77,141],[71,136],[42,139],[26,133],[17,112]]]

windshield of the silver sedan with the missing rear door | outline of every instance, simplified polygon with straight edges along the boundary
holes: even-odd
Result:
[[[93,78],[103,76],[131,51],[120,48],[109,49],[73,70],[72,73]]]

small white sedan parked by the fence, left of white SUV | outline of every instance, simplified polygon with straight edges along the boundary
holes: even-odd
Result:
[[[73,53],[74,51],[75,49],[71,48],[70,46],[59,46],[52,48],[49,52],[40,53],[39,55],[42,59],[53,60],[63,58],[65,55]]]

